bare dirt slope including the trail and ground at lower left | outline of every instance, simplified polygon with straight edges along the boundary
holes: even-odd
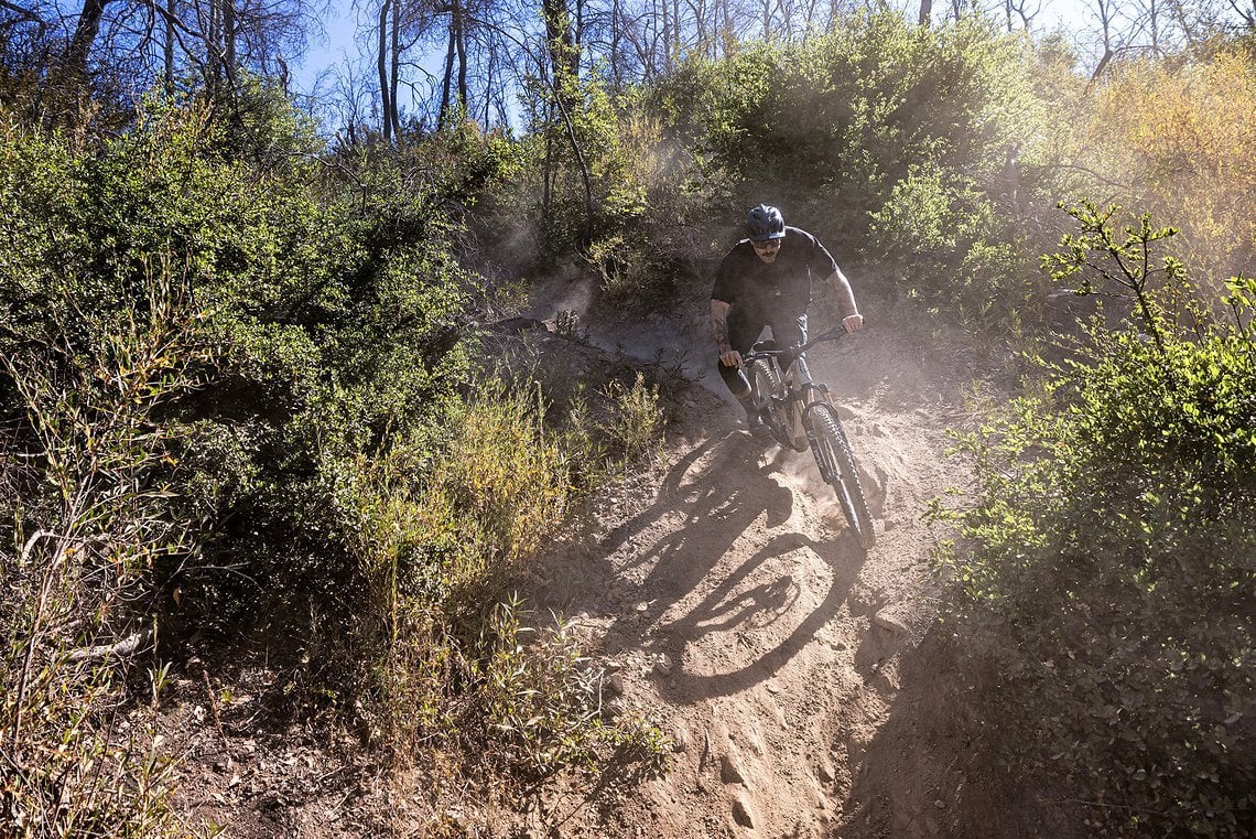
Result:
[[[517,323],[553,324],[589,299],[560,289]],[[701,301],[682,309],[598,323],[598,306],[582,305],[587,340],[522,339],[577,378],[632,359],[683,368],[664,457],[594,502],[538,558],[524,593],[535,614],[574,619],[613,712],[672,736],[669,771],[594,795],[554,789],[530,814],[477,813],[451,790],[453,810],[438,814],[430,790],[399,795],[353,736],[329,747],[268,713],[265,667],[193,662],[167,691],[165,728],[185,757],[188,813],[250,838],[425,835],[433,820],[462,825],[440,835],[529,839],[1083,835],[1076,808],[1000,770],[981,686],[956,667],[966,651],[934,620],[927,558],[946,534],[922,514],[963,491],[945,430],[972,418],[963,394],[993,371],[962,342],[875,311],[811,354],[864,468],[878,534],[864,556],[810,455],[741,430],[707,368]]]

